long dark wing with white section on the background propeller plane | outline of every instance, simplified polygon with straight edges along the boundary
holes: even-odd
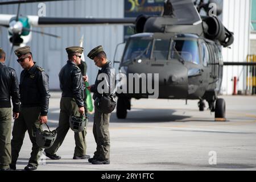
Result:
[[[9,26],[10,19],[16,15],[0,14],[0,25]],[[28,22],[33,27],[46,26],[81,26],[81,25],[96,25],[96,24],[123,24],[132,25],[136,18],[55,18],[55,17],[39,17],[27,16]]]

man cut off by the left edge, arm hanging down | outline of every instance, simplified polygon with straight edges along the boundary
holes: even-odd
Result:
[[[5,51],[0,48],[0,171],[10,170],[11,101],[13,117],[19,117],[19,82],[14,69],[5,65]]]

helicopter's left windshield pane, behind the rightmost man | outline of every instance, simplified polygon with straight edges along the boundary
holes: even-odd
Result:
[[[151,49],[152,39],[132,38],[126,46],[123,62],[138,58],[150,59]]]

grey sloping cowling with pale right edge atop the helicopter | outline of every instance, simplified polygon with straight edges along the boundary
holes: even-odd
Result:
[[[199,24],[201,17],[192,0],[171,0],[174,9],[176,24]]]

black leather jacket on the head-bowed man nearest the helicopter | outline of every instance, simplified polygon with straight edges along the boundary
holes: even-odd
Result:
[[[104,74],[101,75],[101,73],[104,73]],[[99,86],[99,84],[102,84],[102,85]],[[105,85],[108,88],[104,88]],[[98,89],[100,93],[98,92]],[[93,92],[93,100],[96,100],[97,97],[102,96],[102,93],[105,95],[113,96],[115,93],[114,89],[115,89],[115,69],[112,67],[111,61],[108,61],[108,63],[106,63],[104,67],[102,67],[98,71],[96,81],[94,85],[91,86],[90,91]]]

